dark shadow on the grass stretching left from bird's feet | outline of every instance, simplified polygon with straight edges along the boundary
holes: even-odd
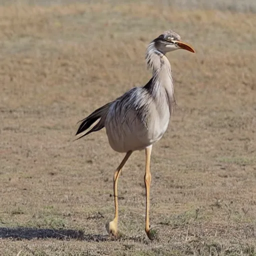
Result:
[[[53,228],[35,228],[35,227],[0,227],[0,239],[76,239],[83,241],[109,241],[109,240],[133,240],[137,242],[147,243],[140,236],[125,236],[114,238],[108,234],[86,234],[82,230],[75,229],[53,229]]]

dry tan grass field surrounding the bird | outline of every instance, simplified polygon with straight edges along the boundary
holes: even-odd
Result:
[[[0,255],[256,255],[255,4],[57,2],[0,7]],[[177,106],[152,151],[157,239],[144,233],[138,151],[114,240],[104,226],[123,155],[104,130],[74,142],[76,122],[144,85],[146,45],[170,28],[196,54],[167,55]]]

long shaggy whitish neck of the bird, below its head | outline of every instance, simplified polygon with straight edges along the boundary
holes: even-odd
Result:
[[[161,51],[155,48],[154,42],[149,43],[145,57],[147,66],[152,70],[152,78],[146,86],[159,104],[162,104],[164,97],[166,98],[171,114],[175,97],[170,62]]]

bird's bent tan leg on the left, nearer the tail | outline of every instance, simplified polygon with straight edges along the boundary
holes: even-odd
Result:
[[[109,234],[117,236],[117,222],[118,222],[118,197],[117,197],[117,182],[119,175],[121,173],[122,167],[125,162],[128,160],[129,156],[131,155],[132,151],[128,151],[124,158],[122,159],[119,166],[116,168],[114,172],[114,179],[113,179],[113,187],[114,187],[114,219],[109,223],[106,223],[106,230]]]

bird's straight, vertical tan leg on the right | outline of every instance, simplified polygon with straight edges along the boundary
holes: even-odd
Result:
[[[146,188],[146,216],[145,216],[145,232],[149,239],[150,236],[150,225],[149,225],[149,194],[150,194],[150,182],[151,182],[151,173],[150,173],[150,156],[151,156],[152,145],[145,148],[146,154],[146,166],[145,166],[145,188]]]

